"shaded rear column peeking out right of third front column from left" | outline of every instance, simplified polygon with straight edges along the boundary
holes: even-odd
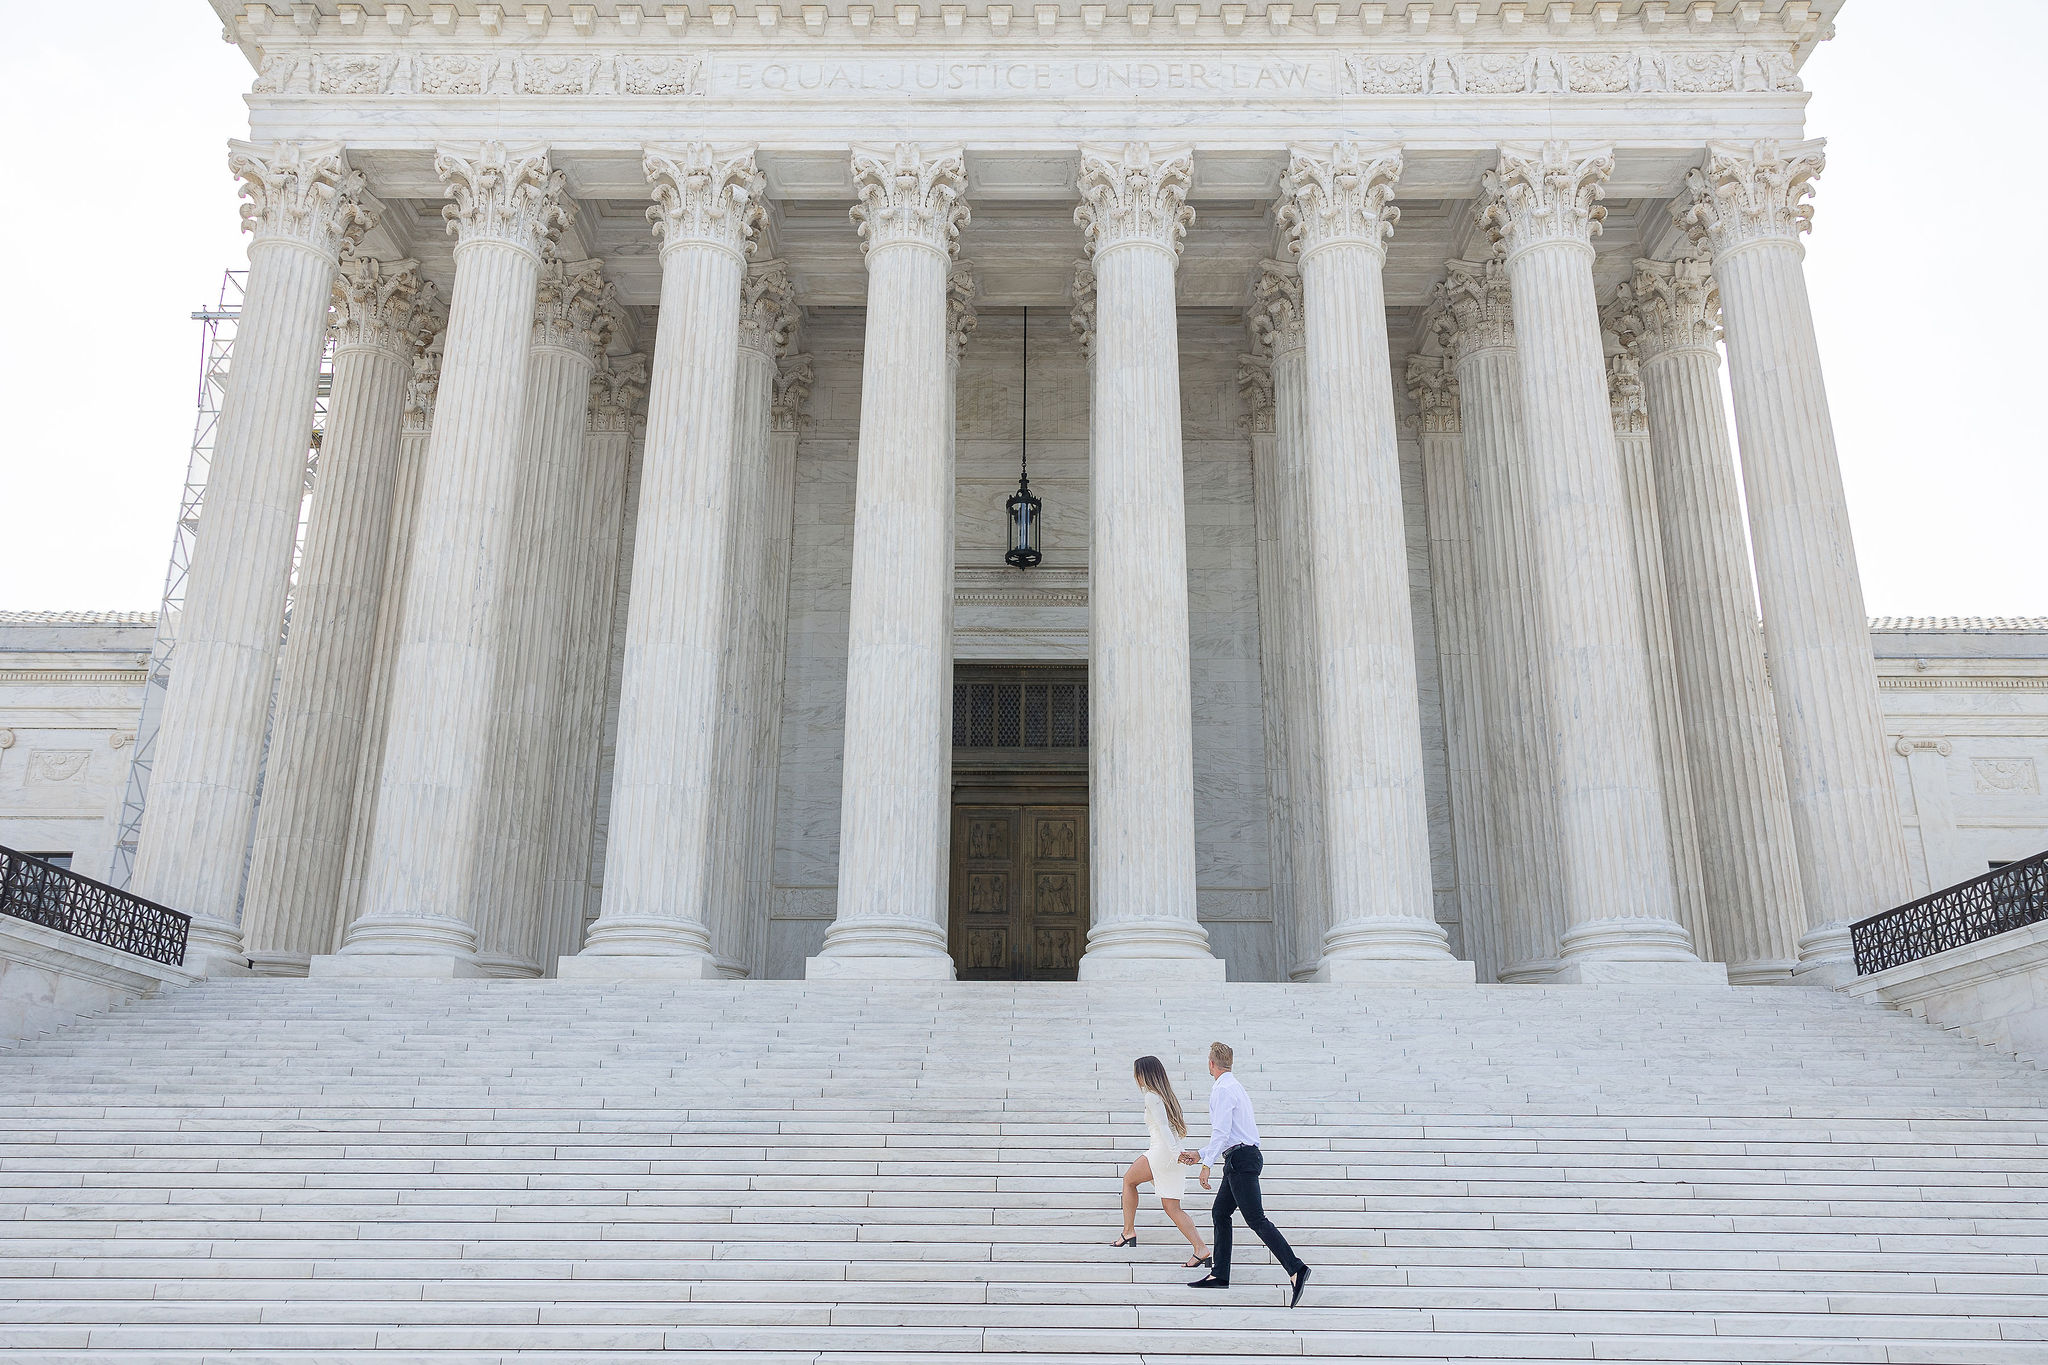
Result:
[[[711,941],[719,970],[750,976],[760,968],[750,919],[748,882],[754,870],[756,745],[762,739],[762,655],[768,649],[770,589],[770,409],[776,356],[797,329],[797,287],[778,260],[756,262],[739,295],[739,391],[733,407],[731,540],[725,571],[725,659],[719,696],[717,790],[723,800],[713,825]]]

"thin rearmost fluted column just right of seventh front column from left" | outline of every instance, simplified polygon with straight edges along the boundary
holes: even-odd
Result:
[[[1620,458],[1622,495],[1628,499],[1630,563],[1636,575],[1636,610],[1642,616],[1642,647],[1649,663],[1657,790],[1663,796],[1665,841],[1671,849],[1675,917],[1692,935],[1692,950],[1714,962],[1714,935],[1700,876],[1700,825],[1694,819],[1686,718],[1677,692],[1677,655],[1671,645],[1663,526],[1657,516],[1657,475],[1651,471],[1651,424],[1642,405],[1642,372],[1636,352],[1626,340],[1618,354],[1608,356],[1608,413],[1614,420],[1614,452]]]

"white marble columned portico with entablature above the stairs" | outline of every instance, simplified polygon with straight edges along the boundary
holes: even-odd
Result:
[[[133,874],[215,970],[1829,982],[1911,898],[1839,0],[215,8]]]

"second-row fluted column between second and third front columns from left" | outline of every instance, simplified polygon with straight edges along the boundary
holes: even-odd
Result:
[[[541,976],[547,839],[563,726],[561,663],[569,645],[578,526],[586,479],[584,434],[596,358],[623,325],[598,260],[547,260],[535,295],[532,360],[520,420],[518,483],[504,614],[498,624],[498,704],[477,839],[469,921],[492,976]]]

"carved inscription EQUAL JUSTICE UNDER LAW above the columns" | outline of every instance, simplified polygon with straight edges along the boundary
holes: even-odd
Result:
[[[1309,61],[715,61],[719,94],[1331,94]]]

